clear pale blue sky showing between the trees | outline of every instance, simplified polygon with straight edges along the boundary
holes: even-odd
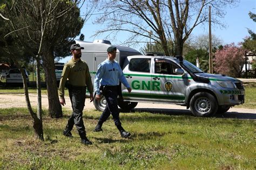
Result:
[[[82,6],[80,15],[84,15],[85,5]],[[242,42],[246,36],[250,36],[248,34],[248,29],[256,32],[256,23],[248,16],[249,11],[256,13],[256,0],[240,0],[240,3],[237,6],[233,6],[232,8],[226,9],[226,15],[223,18],[223,23],[226,25],[225,28],[213,27],[212,26],[212,34],[214,34],[217,38],[223,41],[223,45],[230,44],[234,42],[238,44]],[[104,35],[100,37],[92,37],[97,30],[99,25],[92,24],[93,17],[91,17],[83,26],[83,29],[80,33],[83,33],[85,38],[84,41],[93,41],[96,39],[104,39]],[[192,34],[194,36],[198,36],[200,34],[208,34],[208,25],[205,27],[196,27],[193,30]],[[123,32],[122,37],[125,39],[126,33]],[[79,37],[77,37],[79,38]],[[122,39],[119,40],[110,40],[111,44],[119,45],[122,43]],[[133,47],[139,51],[139,48],[142,45]],[[66,57],[65,59],[60,60],[60,62],[66,62],[70,59],[70,57]]]

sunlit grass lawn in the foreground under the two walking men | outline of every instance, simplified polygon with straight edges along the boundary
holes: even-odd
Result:
[[[93,132],[99,111],[85,110],[87,137],[80,144],[62,135],[68,121],[44,115],[45,141],[33,139],[32,119],[23,108],[0,109],[1,169],[255,169],[255,120],[199,118],[186,115],[121,113],[120,137],[112,119]],[[112,117],[111,117],[112,118]]]

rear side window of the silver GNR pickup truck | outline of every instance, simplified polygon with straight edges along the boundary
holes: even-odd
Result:
[[[151,59],[131,59],[129,70],[150,73],[150,61]]]

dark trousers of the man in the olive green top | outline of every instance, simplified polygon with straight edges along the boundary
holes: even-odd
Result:
[[[86,95],[86,87],[69,87],[69,97],[72,104],[72,115],[69,118],[66,130],[71,131],[74,124],[78,130],[80,137],[86,135],[83,122],[83,109]]]

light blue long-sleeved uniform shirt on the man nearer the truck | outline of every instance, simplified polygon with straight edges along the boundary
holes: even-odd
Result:
[[[106,59],[99,64],[98,70],[95,74],[94,88],[96,94],[99,95],[99,87],[101,86],[117,86],[119,81],[124,84],[125,87],[130,88],[129,83],[125,79],[122,68],[117,61],[110,61]]]

